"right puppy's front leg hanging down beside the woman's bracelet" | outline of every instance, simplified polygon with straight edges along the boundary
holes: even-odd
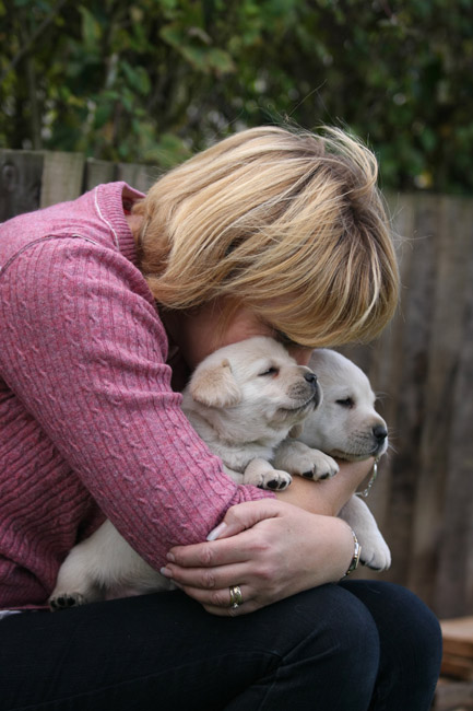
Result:
[[[366,503],[359,497],[352,497],[339,516],[355,532],[362,546],[362,562],[374,570],[388,570],[391,551]]]

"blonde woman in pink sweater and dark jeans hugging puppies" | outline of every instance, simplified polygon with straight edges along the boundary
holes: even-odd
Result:
[[[398,271],[376,176],[341,131],[261,127],[146,197],[103,185],[2,225],[0,606],[43,611],[1,621],[0,709],[429,708],[430,613],[335,584],[356,560],[336,513],[371,463],[238,487],[179,408],[220,346],[269,335],[306,363],[382,329]],[[45,611],[105,516],[184,594]]]

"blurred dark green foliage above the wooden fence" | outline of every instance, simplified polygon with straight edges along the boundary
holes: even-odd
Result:
[[[342,125],[382,184],[471,194],[473,0],[0,0],[0,147],[163,167]]]

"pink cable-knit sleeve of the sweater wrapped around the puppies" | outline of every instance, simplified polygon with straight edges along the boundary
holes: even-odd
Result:
[[[151,563],[203,540],[236,486],[180,409],[147,285],[118,252],[54,237],[0,279],[5,382],[100,509]]]

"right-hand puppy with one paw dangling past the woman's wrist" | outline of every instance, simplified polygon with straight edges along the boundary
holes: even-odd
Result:
[[[317,373],[323,400],[305,419],[300,442],[341,459],[378,459],[388,448],[388,429],[375,410],[376,398],[366,375],[341,353],[323,348],[314,351],[309,366]],[[277,466],[291,470],[298,446],[298,442],[285,444]],[[376,570],[388,569],[391,553],[366,503],[354,496],[339,515],[356,533],[362,562]]]

